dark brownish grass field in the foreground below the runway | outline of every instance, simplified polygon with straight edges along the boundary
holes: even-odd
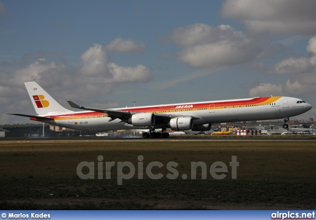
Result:
[[[103,178],[98,179],[98,156]],[[143,156],[143,179],[138,178]],[[230,161],[237,156],[237,179]],[[2,209],[315,209],[316,143],[313,141],[51,141],[0,143]],[[80,162],[94,162],[94,179],[80,179]],[[111,179],[106,162],[115,161]],[[129,161],[133,178],[118,183],[118,162]],[[159,161],[150,179],[146,167]],[[168,162],[179,165],[175,180],[166,178]],[[207,166],[207,179],[191,162]],[[209,172],[216,161],[228,167],[222,180]],[[88,174],[87,167],[82,169]],[[123,169],[124,174],[129,168]],[[186,180],[182,174],[187,174]],[[221,174],[221,173],[217,173]]]

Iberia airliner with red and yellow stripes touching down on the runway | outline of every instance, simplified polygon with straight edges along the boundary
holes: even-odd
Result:
[[[213,123],[284,119],[309,111],[312,105],[300,98],[286,96],[188,102],[177,104],[98,109],[68,101],[71,111],[61,106],[36,82],[24,83],[37,115],[10,113],[30,120],[77,130],[149,129],[143,137],[169,137],[172,130],[207,131]],[[161,129],[162,132],[155,132]]]

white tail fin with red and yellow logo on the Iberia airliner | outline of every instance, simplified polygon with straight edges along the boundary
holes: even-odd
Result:
[[[38,115],[48,113],[71,112],[61,106],[54,98],[52,98],[45,90],[43,90],[36,82],[24,83],[30,95],[35,111]]]

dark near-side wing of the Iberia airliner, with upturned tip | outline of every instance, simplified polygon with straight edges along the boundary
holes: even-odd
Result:
[[[108,114],[108,116],[112,119],[118,118],[118,119],[127,119],[131,115],[140,114],[142,112],[131,112],[131,111],[121,111],[121,110],[114,110],[114,109],[100,109],[100,108],[90,108],[90,107],[83,107],[79,106],[76,103],[72,101],[67,101],[71,107],[73,108],[79,108],[89,111],[95,111],[95,112],[102,112]],[[171,118],[179,118],[179,117],[191,117],[193,120],[200,119],[200,117],[195,115],[168,115],[168,114],[157,114],[155,113],[155,117],[158,121],[169,121]]]

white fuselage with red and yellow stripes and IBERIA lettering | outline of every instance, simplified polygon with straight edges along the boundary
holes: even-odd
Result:
[[[208,102],[178,103],[143,107],[117,108],[114,110],[130,112],[149,112],[166,114],[170,117],[195,116],[194,126],[213,123],[272,120],[293,117],[310,110],[312,106],[299,98],[277,96],[248,99],[218,100]],[[107,114],[94,111],[79,111],[60,114],[45,114],[42,117],[54,118],[45,123],[78,130],[119,130],[149,129],[152,127],[136,127]],[[32,119],[36,120],[36,119]],[[40,120],[36,120],[40,121]],[[162,128],[155,125],[154,128]]]

